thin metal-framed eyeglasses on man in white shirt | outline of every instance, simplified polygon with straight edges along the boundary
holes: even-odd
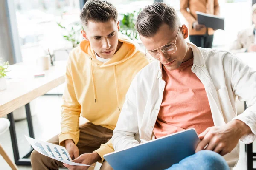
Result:
[[[178,34],[180,32],[180,28],[181,27],[179,27],[179,30],[178,30],[178,33],[176,35],[174,43],[171,42],[171,43],[168,43],[168,44],[163,45],[161,47],[158,47],[160,49],[156,48],[152,51],[147,51],[146,50],[145,56],[150,60],[157,60],[157,59],[160,58],[160,52],[159,51],[162,51],[164,54],[173,54],[173,53],[175,53],[177,51],[176,40],[177,40]]]

